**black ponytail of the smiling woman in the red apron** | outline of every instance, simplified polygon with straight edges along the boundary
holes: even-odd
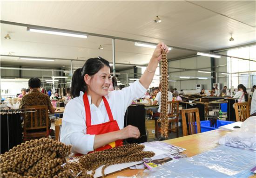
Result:
[[[71,97],[77,97],[80,95],[80,91],[86,91],[86,85],[82,77],[82,68],[78,68],[74,71],[71,82]]]

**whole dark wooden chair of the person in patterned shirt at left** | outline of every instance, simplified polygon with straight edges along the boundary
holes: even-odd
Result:
[[[24,107],[32,112],[24,113],[24,141],[36,138],[46,137],[49,133],[48,130],[48,106],[38,105],[38,106],[26,106]],[[33,112],[34,111],[34,112]],[[45,113],[45,117],[42,113]],[[30,115],[30,127],[27,127],[26,115]],[[45,126],[43,126],[43,121],[45,121]],[[27,132],[30,131],[30,132]]]

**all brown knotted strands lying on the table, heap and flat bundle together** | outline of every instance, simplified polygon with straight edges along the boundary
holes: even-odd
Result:
[[[143,152],[144,145],[129,144],[79,157],[79,162],[66,163],[71,146],[51,139],[30,140],[0,156],[1,178],[93,178],[104,165],[141,161],[155,155]],[[92,174],[88,174],[92,171]]]

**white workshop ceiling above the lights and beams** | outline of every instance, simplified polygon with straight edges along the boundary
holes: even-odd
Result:
[[[211,51],[256,41],[256,1],[1,1],[1,20],[98,33],[152,43],[165,42],[198,51]],[[158,15],[162,22],[153,22]],[[230,42],[230,33],[235,41]],[[10,40],[4,37],[9,34]],[[99,45],[103,50],[99,50]],[[147,64],[153,49],[115,40],[116,63]],[[1,54],[86,60],[104,57],[112,62],[112,40],[89,36],[72,38],[1,24]],[[195,52],[173,49],[168,58]],[[13,62],[14,61],[14,62]],[[1,65],[68,66],[15,61],[1,57]],[[74,62],[75,63],[75,62]],[[82,63],[82,62],[80,62]],[[76,65],[76,64],[74,64]],[[81,65],[81,64],[77,64]],[[70,66],[69,66],[70,67]],[[117,65],[117,70],[126,65]]]

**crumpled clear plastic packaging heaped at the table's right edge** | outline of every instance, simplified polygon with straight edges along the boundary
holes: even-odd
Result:
[[[222,145],[256,150],[256,116],[243,121],[241,128],[220,138]]]

